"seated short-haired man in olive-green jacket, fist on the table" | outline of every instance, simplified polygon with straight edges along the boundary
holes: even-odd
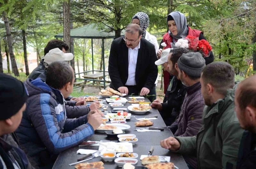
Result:
[[[196,136],[169,137],[160,144],[184,156],[196,156],[197,168],[236,169],[244,130],[234,111],[235,71],[227,62],[212,62],[204,68],[200,82],[206,105],[202,128]]]

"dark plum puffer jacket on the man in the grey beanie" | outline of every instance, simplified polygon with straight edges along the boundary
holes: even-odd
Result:
[[[196,136],[202,127],[202,116],[204,110],[204,98],[201,93],[201,83],[184,88],[187,93],[183,101],[179,119],[171,125],[171,131],[177,129],[174,136]],[[185,161],[196,168],[196,157],[184,156]]]

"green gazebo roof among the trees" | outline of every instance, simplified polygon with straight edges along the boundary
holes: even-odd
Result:
[[[108,28],[105,27],[107,30]],[[78,27],[70,30],[70,38],[83,38],[83,39],[109,39],[115,38],[115,32],[106,32],[96,26],[96,24],[88,24],[82,27]],[[121,32],[121,36],[124,35],[124,30]],[[55,38],[63,38],[63,32],[54,36]]]

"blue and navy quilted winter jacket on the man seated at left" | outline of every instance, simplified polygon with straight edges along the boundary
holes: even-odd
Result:
[[[16,134],[39,166],[48,165],[57,155],[82,143],[94,134],[87,115],[76,119],[66,117],[64,98],[59,90],[40,78],[24,82],[29,97]]]

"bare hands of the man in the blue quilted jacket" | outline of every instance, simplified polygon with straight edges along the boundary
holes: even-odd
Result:
[[[103,116],[103,113],[100,110],[91,110],[88,113],[87,115],[88,123],[91,124],[94,130],[98,129],[100,124],[103,123],[102,116]]]

